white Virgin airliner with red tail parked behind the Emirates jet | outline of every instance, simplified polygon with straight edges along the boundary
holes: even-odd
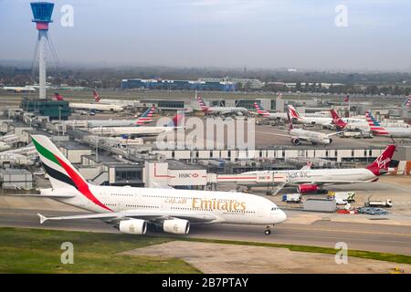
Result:
[[[287,177],[287,183],[284,185],[297,186],[299,193],[316,192],[322,185],[326,184],[345,184],[345,183],[372,183],[376,182],[380,175],[388,172],[389,162],[393,158],[395,145],[388,145],[377,159],[366,168],[346,168],[346,169],[301,169],[292,171],[263,171],[263,172],[243,172],[241,175],[256,175],[256,178],[262,178],[265,175],[275,177]],[[268,175],[269,174],[269,175]],[[271,175],[272,174],[272,175]],[[258,180],[258,183],[241,183],[239,185],[269,186],[272,180],[264,183]]]

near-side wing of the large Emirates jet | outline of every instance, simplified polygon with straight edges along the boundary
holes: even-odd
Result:
[[[197,213],[174,213],[174,212],[152,212],[152,211],[125,211],[112,212],[104,214],[82,214],[71,216],[46,217],[42,214],[37,214],[40,217],[40,224],[47,220],[79,220],[79,219],[109,219],[121,220],[124,218],[143,219],[148,221],[162,221],[170,218],[180,218],[188,220],[192,223],[212,223],[218,222],[219,218],[213,214],[197,214]]]

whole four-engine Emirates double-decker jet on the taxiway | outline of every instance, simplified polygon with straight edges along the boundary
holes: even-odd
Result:
[[[100,219],[124,234],[142,235],[148,224],[154,224],[166,233],[184,235],[190,231],[190,224],[269,225],[286,219],[275,203],[254,194],[92,185],[46,136],[32,138],[52,185],[35,196],[56,199],[94,213],[50,218],[38,214],[41,224]],[[270,234],[269,226],[265,234]]]

